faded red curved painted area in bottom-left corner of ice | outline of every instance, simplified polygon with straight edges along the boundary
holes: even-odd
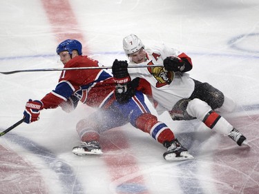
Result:
[[[1,145],[0,163],[0,193],[48,193],[48,186],[35,167]]]

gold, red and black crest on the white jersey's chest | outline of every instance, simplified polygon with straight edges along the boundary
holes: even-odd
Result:
[[[152,67],[153,61],[150,61],[148,65],[151,66],[148,67],[148,71],[153,75],[153,77],[155,77],[155,79],[157,79],[157,83],[155,84],[157,88],[171,84],[174,72],[167,72],[163,67]]]

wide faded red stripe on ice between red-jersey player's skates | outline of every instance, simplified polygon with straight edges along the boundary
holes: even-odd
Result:
[[[104,161],[113,182],[119,180],[116,193],[148,194],[144,177],[133,156],[128,141],[120,128],[108,130],[101,138]],[[131,176],[133,175],[133,176]]]

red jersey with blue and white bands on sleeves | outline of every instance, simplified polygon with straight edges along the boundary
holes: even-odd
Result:
[[[64,68],[81,68],[98,66],[98,61],[87,56],[77,56],[70,59]],[[44,108],[57,108],[72,95],[92,107],[108,106],[115,100],[113,77],[102,69],[63,70],[59,84],[55,90],[48,93],[41,101]]]

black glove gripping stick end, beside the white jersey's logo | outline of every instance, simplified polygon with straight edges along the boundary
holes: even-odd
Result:
[[[166,59],[164,59],[164,68],[167,71],[181,71],[184,69],[184,61],[182,61],[179,57],[166,57]]]

